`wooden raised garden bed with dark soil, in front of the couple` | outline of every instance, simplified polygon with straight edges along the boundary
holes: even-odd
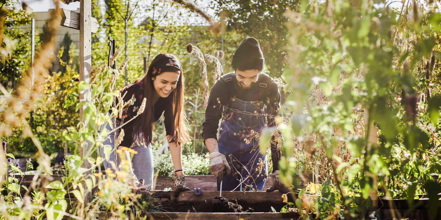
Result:
[[[202,191],[200,195],[194,191],[183,191],[178,198],[173,198],[173,191],[151,191],[161,202],[163,213],[147,213],[155,220],[268,220],[268,219],[298,219],[298,213],[273,213],[271,207],[280,210],[285,204],[280,192],[222,192],[222,197],[228,198],[233,209],[219,210],[213,206],[211,199],[219,196],[219,191]],[[240,205],[240,206],[239,206]],[[239,209],[240,207],[240,209]],[[243,212],[239,212],[243,210]],[[223,212],[219,212],[223,211]],[[99,220],[112,218],[112,213],[97,213]]]

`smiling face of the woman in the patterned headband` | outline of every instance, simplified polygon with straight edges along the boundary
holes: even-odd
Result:
[[[164,72],[156,77],[152,77],[153,87],[157,95],[162,98],[167,98],[168,95],[176,89],[179,76],[180,74],[176,72]]]

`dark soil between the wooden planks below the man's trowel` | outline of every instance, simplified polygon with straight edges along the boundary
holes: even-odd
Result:
[[[217,198],[216,198],[217,199]],[[221,200],[224,198],[221,198]],[[206,200],[204,202],[180,202],[173,203],[169,201],[161,202],[162,209],[164,212],[178,212],[178,213],[268,213],[271,212],[273,207],[277,211],[286,204],[283,202],[260,202],[250,204],[246,200],[242,199],[229,199],[229,202],[222,203],[219,205],[213,205],[211,200]]]

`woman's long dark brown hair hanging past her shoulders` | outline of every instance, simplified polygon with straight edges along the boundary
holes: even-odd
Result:
[[[146,97],[146,109],[144,112],[140,115],[141,120],[135,120],[134,128],[133,128],[133,135],[134,139],[138,136],[139,132],[142,132],[142,139],[144,139],[145,143],[149,145],[152,142],[152,130],[153,130],[153,122],[155,122],[154,117],[154,98],[153,96],[156,94],[155,88],[153,86],[153,80],[152,77],[157,77],[161,73],[157,73],[156,75],[152,74],[153,66],[155,66],[158,62],[158,60],[161,59],[168,59],[172,58],[177,60],[180,64],[180,60],[175,56],[171,54],[159,54],[153,59],[153,61],[150,63],[149,70],[147,70],[146,73],[144,73],[144,77],[142,79],[142,87],[144,88],[144,97]],[[185,114],[183,112],[183,105],[184,105],[184,76],[183,71],[181,70],[181,74],[179,76],[179,80],[176,83],[176,89],[173,90],[173,92],[168,95],[166,98],[171,102],[169,105],[169,109],[166,109],[165,112],[172,113],[172,121],[173,126],[171,128],[172,132],[172,139],[168,140],[169,143],[176,142],[178,144],[182,142],[188,142],[190,141],[190,136],[188,135],[187,130],[187,118],[185,117]],[[147,147],[147,146],[146,146]]]

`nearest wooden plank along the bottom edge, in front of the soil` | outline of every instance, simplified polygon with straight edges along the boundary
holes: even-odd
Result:
[[[98,220],[112,218],[112,213],[97,213]],[[155,220],[268,220],[268,219],[299,219],[298,213],[147,213]]]

